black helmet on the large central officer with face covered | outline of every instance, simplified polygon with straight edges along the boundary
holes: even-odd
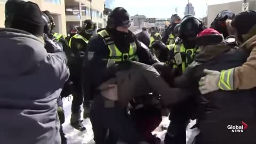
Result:
[[[130,15],[123,7],[116,7],[108,15],[107,27],[113,29],[119,26],[131,26]]]

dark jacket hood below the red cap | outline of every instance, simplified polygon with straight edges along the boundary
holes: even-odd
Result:
[[[226,43],[220,43],[215,45],[206,45],[203,47],[202,51],[199,52],[195,56],[195,61],[197,62],[206,62],[209,61],[219,55],[221,55],[224,52],[227,52],[230,50],[232,46],[226,44]]]

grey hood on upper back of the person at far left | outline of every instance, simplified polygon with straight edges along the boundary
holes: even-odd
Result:
[[[28,73],[45,59],[46,50],[40,38],[18,29],[0,29],[0,75]]]

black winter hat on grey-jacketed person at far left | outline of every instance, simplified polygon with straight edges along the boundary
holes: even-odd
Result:
[[[13,15],[11,28],[25,30],[33,35],[42,36],[44,20],[38,5],[33,2],[19,2]]]

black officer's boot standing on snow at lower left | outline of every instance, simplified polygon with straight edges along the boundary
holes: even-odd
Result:
[[[83,125],[83,121],[80,119],[81,118],[81,114],[71,114],[71,118],[70,118],[70,124],[71,126],[73,126],[75,129],[77,129],[78,131],[84,131],[86,130],[86,128]]]

